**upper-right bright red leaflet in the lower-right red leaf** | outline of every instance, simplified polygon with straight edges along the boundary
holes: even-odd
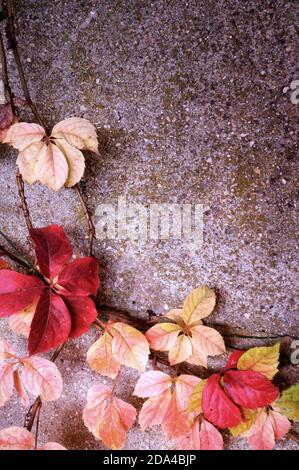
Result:
[[[270,380],[253,370],[226,372],[223,385],[231,399],[244,408],[262,408],[278,396],[278,390]]]

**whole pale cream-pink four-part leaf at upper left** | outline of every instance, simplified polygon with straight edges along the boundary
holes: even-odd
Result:
[[[83,118],[59,122],[50,137],[39,124],[16,123],[2,141],[19,150],[17,165],[25,181],[40,181],[54,191],[81,180],[85,160],[79,149],[98,152],[95,128]]]

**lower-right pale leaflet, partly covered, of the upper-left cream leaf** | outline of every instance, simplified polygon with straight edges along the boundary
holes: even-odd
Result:
[[[79,183],[79,181],[84,175],[85,160],[83,153],[76,147],[70,145],[64,139],[55,140],[55,144],[62,151],[63,155],[66,158],[69,171],[67,180],[64,185],[67,188],[71,188],[72,186],[75,186],[75,184]]]

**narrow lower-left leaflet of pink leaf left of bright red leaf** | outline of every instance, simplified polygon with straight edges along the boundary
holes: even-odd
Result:
[[[168,410],[171,391],[165,390],[161,395],[146,400],[139,413],[139,424],[142,431],[149,426],[161,424]]]

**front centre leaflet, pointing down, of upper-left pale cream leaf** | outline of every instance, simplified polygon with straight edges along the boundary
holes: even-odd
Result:
[[[62,188],[68,177],[68,165],[65,156],[52,143],[45,144],[42,147],[35,171],[39,181],[54,191]]]

